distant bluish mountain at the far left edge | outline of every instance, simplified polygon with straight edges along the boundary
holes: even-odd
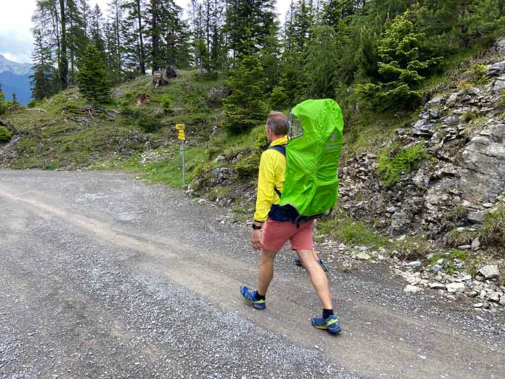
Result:
[[[0,55],[0,84],[4,91],[5,98],[12,99],[12,94],[16,93],[16,100],[27,105],[31,100],[30,80],[31,63],[17,63],[9,61]]]

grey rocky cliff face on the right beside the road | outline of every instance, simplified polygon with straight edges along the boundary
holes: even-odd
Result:
[[[431,159],[386,189],[377,156],[362,154],[342,167],[340,205],[352,216],[373,221],[391,236],[422,232],[444,240],[456,226],[479,228],[485,213],[505,197],[505,39],[486,67],[487,84],[436,97],[409,129],[391,143],[424,144]]]

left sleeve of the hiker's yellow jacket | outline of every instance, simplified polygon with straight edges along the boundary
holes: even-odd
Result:
[[[275,167],[274,159],[268,150],[261,155],[260,172],[258,174],[258,197],[256,199],[256,221],[266,221],[270,207],[274,202],[275,194]],[[278,154],[278,153],[276,153]]]

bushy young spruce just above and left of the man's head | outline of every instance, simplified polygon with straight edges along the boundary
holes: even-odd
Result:
[[[233,133],[240,133],[264,121],[266,105],[263,68],[257,57],[247,56],[231,71],[225,82],[231,94],[223,103],[224,126]]]

